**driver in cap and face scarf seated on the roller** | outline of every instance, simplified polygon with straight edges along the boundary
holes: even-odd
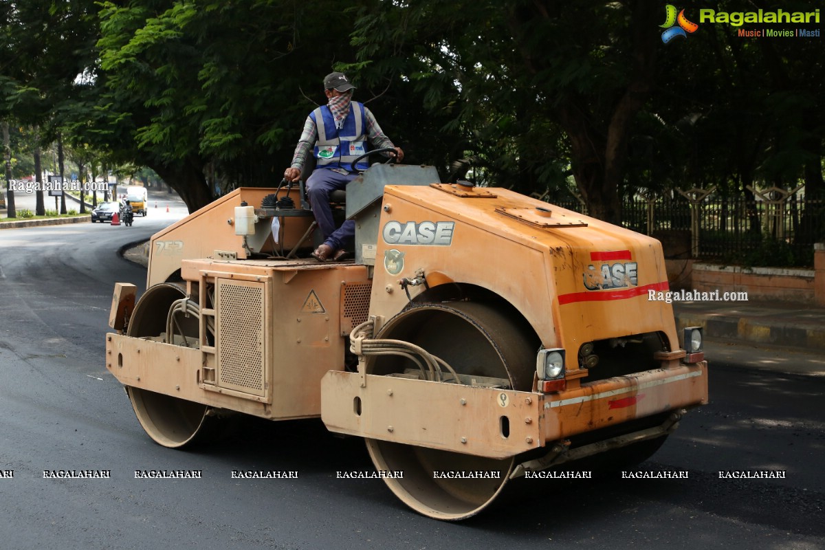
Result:
[[[330,73],[323,79],[328,103],[309,113],[304,122],[304,132],[298,140],[292,164],[284,172],[286,181],[296,181],[301,176],[309,149],[314,148],[316,167],[307,178],[307,194],[324,242],[312,253],[318,261],[337,261],[346,256],[346,248],[355,237],[356,223],[348,219],[335,228],[329,194],[341,190],[358,176],[351,172],[351,162],[367,153],[372,144],[375,148],[394,148],[389,156],[401,162],[404,152],[381,131],[375,116],[362,103],[352,101],[355,89],[343,73]],[[369,163],[364,158],[356,167],[366,170]]]

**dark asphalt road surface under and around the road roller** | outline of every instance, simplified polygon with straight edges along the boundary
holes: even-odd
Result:
[[[106,372],[103,335],[114,282],[145,281],[116,252],[176,208],[132,228],[0,231],[0,472],[14,471],[0,477],[0,548],[825,548],[825,380],[747,360],[712,363],[712,402],[637,468],[687,479],[517,480],[457,524],[416,515],[380,480],[338,479],[372,465],[361,440],[320,421],[248,421],[189,451],[153,444]],[[44,478],[72,469],[111,477]],[[134,477],[149,469],[202,478]],[[785,478],[719,478],[761,470]]]

